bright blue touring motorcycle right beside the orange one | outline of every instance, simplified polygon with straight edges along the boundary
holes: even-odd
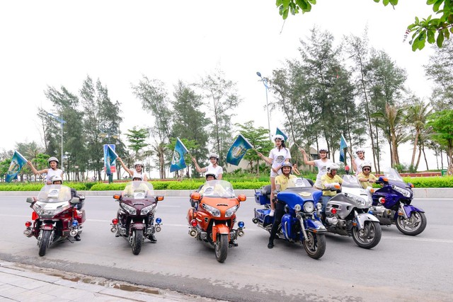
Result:
[[[322,192],[311,187],[304,178],[290,179],[286,190],[277,193],[277,200],[286,204],[285,214],[277,231],[277,237],[291,243],[299,243],[309,257],[319,259],[326,252],[326,228],[319,215],[317,203]],[[255,201],[264,209],[254,209],[253,223],[270,233],[274,217],[270,214],[270,185],[255,191]]]

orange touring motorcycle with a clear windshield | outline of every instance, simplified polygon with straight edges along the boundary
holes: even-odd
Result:
[[[246,195],[234,194],[230,182],[225,180],[209,180],[198,192],[190,194],[192,207],[188,210],[189,235],[214,247],[218,262],[224,262],[228,248],[237,246],[234,243],[244,235],[244,223],[236,223],[236,211]]]

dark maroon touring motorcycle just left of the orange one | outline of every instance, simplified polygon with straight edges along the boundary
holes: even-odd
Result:
[[[164,196],[156,196],[149,182],[132,181],[113,198],[120,207],[116,218],[110,223],[110,231],[115,233],[115,237],[125,238],[132,247],[132,253],[139,255],[145,238],[161,231],[162,219],[156,218],[154,224],[154,214],[157,203],[164,200]]]

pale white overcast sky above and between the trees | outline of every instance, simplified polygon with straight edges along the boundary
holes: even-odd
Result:
[[[315,25],[337,42],[367,27],[369,44],[406,69],[408,88],[429,98],[423,64],[432,50],[412,52],[403,42],[415,16],[432,13],[425,0],[401,0],[395,8],[373,0],[317,2],[310,13],[284,22],[275,0],[1,1],[0,150],[19,141],[41,143],[36,114],[39,107],[52,112],[47,86],[78,93],[88,75],[122,104],[123,133],[152,124],[131,90],[143,76],[163,81],[173,95],[179,80],[195,83],[216,68],[236,82],[242,99],[233,122],[254,120],[267,128],[265,87],[256,71],[271,76],[285,59],[296,58],[299,39]],[[281,125],[282,114],[271,112],[272,131]]]

